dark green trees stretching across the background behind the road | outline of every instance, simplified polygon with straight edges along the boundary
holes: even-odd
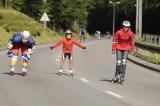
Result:
[[[6,0],[0,0],[3,6]],[[112,30],[113,4],[116,5],[116,29],[124,19],[135,28],[136,0],[11,0],[12,7],[39,20],[44,12],[51,18],[50,27],[57,29],[72,28],[75,22],[87,26],[90,32]],[[151,25],[159,23],[160,1],[143,0],[143,29],[149,32]],[[153,30],[152,30],[153,29]],[[149,30],[149,31],[148,31]],[[152,27],[149,33],[159,33]]]

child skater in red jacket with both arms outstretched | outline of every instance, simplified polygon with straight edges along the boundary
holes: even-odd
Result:
[[[77,45],[78,47],[80,47],[82,49],[86,49],[86,47],[81,45],[79,42],[77,42],[75,39],[72,38],[72,32],[70,30],[66,31],[65,36],[66,36],[65,38],[62,38],[59,42],[53,44],[50,47],[50,49],[53,49],[53,48],[63,44],[63,53],[62,53],[62,60],[60,62],[59,75],[61,75],[61,73],[63,71],[64,62],[65,62],[66,58],[68,57],[68,59],[69,59],[69,72],[73,76],[73,70],[72,70],[72,67],[73,67],[72,66],[73,44]]]

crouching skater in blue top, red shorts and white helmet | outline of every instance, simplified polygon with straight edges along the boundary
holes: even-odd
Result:
[[[22,54],[22,75],[27,75],[27,65],[30,59],[33,49],[35,48],[35,41],[30,36],[29,31],[18,32],[8,41],[8,56],[11,58],[10,75],[13,76],[15,73],[15,66],[19,51]]]

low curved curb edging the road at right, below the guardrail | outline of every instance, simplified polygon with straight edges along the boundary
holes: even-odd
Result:
[[[142,66],[144,68],[147,68],[147,69],[150,69],[152,71],[156,71],[156,72],[160,73],[160,65],[149,63],[149,62],[141,60],[141,59],[139,59],[135,56],[129,56],[128,60],[137,64],[137,65],[139,65],[139,66]]]

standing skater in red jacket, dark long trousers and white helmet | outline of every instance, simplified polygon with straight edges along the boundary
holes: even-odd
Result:
[[[115,54],[116,51],[117,58],[115,78],[112,82],[120,81],[120,83],[124,82],[128,53],[135,49],[135,38],[130,29],[130,22],[123,21],[122,26],[123,28],[114,34],[112,45],[112,54]]]

